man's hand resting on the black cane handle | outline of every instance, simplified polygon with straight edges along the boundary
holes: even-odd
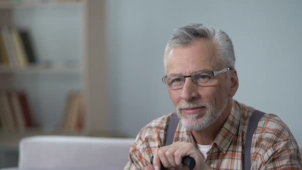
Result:
[[[158,148],[153,153],[153,166],[148,166],[145,170],[160,170],[160,163],[168,169],[188,170],[182,163],[182,158],[190,156],[195,160],[194,170],[211,170],[204,162],[204,157],[194,144],[187,142],[176,142],[172,145]]]

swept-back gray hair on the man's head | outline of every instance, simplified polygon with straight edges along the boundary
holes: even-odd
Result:
[[[189,24],[177,28],[172,33],[172,37],[168,40],[164,51],[164,70],[167,72],[167,59],[170,51],[176,47],[189,46],[194,40],[205,38],[213,40],[216,45],[216,59],[218,62],[227,65],[227,67],[235,67],[235,54],[231,39],[223,30],[216,30],[213,27],[203,24]]]

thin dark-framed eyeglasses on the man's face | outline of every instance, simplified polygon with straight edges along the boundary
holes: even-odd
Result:
[[[182,88],[185,84],[186,78],[191,77],[194,84],[199,86],[207,86],[212,85],[215,76],[225,73],[229,70],[232,70],[232,68],[228,67],[214,72],[199,72],[190,76],[165,76],[162,78],[162,82],[166,84],[169,89],[175,90]]]

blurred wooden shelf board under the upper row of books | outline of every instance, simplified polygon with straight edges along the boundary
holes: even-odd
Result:
[[[7,65],[0,65],[0,74],[32,74],[32,73],[74,73],[80,74],[82,67],[73,66],[45,66],[34,65],[26,68],[11,68]]]

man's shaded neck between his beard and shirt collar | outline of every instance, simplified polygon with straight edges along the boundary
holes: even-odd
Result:
[[[223,113],[218,117],[218,119],[209,127],[201,131],[192,131],[192,135],[195,139],[195,142],[199,145],[211,145],[217,134],[224,126],[228,115],[232,109],[233,100],[230,98],[227,103],[226,109]]]

